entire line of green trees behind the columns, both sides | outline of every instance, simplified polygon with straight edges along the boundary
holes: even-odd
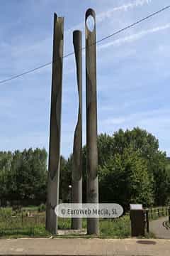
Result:
[[[82,149],[83,201],[86,202],[86,145]],[[170,203],[170,159],[159,150],[154,135],[139,127],[118,130],[112,136],[98,135],[98,178],[101,202],[131,202],[145,206]],[[60,199],[69,201],[72,184],[72,154],[61,156]],[[45,203],[47,152],[28,149],[0,151],[0,203]]]

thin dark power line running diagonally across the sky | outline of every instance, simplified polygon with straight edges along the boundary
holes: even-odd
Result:
[[[169,6],[165,6],[164,8],[159,9],[159,11],[156,11],[156,12],[154,12],[154,13],[152,13],[152,14],[149,14],[149,16],[146,16],[145,18],[142,18],[142,19],[140,19],[139,21],[136,21],[135,23],[132,23],[132,24],[130,24],[130,25],[128,25],[128,26],[125,26],[125,28],[121,28],[120,30],[115,31],[114,33],[111,33],[110,35],[101,38],[100,40],[96,41],[96,44],[97,44],[97,43],[101,43],[102,41],[105,41],[106,39],[111,38],[111,37],[113,37],[113,36],[116,36],[116,35],[118,35],[118,33],[121,33],[121,32],[123,32],[123,31],[126,31],[127,29],[132,28],[133,26],[136,26],[137,24],[142,23],[143,21],[146,21],[146,20],[149,19],[149,18],[152,18],[153,16],[155,16],[155,15],[157,15],[157,14],[160,14],[160,13],[162,13],[163,11],[166,11],[166,10],[169,9],[169,8],[170,8],[170,5],[169,5]],[[91,45],[91,46],[92,46],[92,45]],[[80,50],[84,50],[84,49],[85,49],[85,47],[84,47],[84,48],[81,48]],[[74,55],[74,52],[68,53],[67,55],[64,55],[63,58],[68,58],[68,57],[71,56],[71,55]],[[6,78],[5,80],[1,80],[1,81],[0,81],[0,84],[1,84],[1,83],[4,83],[4,82],[8,82],[8,81],[13,80],[13,79],[16,79],[16,78],[20,78],[20,77],[23,76],[23,75],[28,75],[28,74],[30,74],[30,73],[35,72],[36,70],[40,70],[41,68],[45,68],[45,67],[47,67],[48,65],[51,65],[51,64],[52,64],[52,61],[51,61],[50,63],[45,63],[45,64],[43,64],[43,65],[38,66],[37,68],[33,68],[33,69],[28,70],[28,71],[26,71],[26,72],[23,72],[23,73],[21,73],[21,74],[13,75],[13,76],[11,76],[11,78]]]

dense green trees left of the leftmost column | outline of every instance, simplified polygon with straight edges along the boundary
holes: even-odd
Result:
[[[0,200],[16,205],[45,201],[47,187],[45,149],[0,152]]]

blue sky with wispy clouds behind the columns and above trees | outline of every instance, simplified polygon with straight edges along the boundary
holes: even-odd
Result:
[[[0,80],[52,60],[53,13],[64,16],[64,54],[84,14],[96,11],[97,40],[169,4],[168,0],[0,1]],[[170,155],[170,11],[97,46],[98,133],[141,127]],[[83,55],[83,58],[85,55]],[[85,61],[85,59],[83,59]],[[83,61],[83,62],[84,62]],[[77,122],[74,55],[64,59],[62,154],[72,152]],[[83,67],[84,68],[84,67]],[[0,84],[0,150],[45,147],[50,128],[51,66]],[[83,76],[85,96],[85,75]],[[85,136],[85,97],[83,142]]]

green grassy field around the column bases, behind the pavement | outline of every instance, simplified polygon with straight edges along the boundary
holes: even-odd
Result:
[[[11,208],[0,209],[0,238],[49,238],[51,236],[45,230],[45,212],[38,213],[34,208],[30,217],[27,211],[13,213]],[[98,238],[130,238],[130,218],[125,215],[118,219],[101,219],[100,235]],[[59,230],[69,230],[71,226],[70,218],[58,219]],[[83,219],[83,228],[86,229],[86,219]],[[55,238],[93,238],[91,235],[56,235]],[[153,237],[153,235],[147,235]]]

